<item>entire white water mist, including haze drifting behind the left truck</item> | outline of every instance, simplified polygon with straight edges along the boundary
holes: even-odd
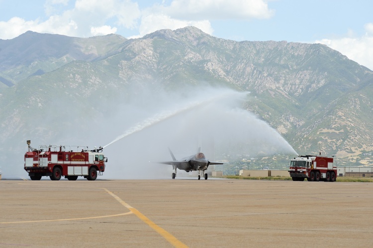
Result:
[[[43,119],[42,124],[34,121],[24,127],[26,132],[15,133],[13,138],[5,137],[3,175],[25,177],[20,165],[27,149],[26,139],[31,139],[34,148],[38,145],[88,145],[89,149],[103,146],[108,163],[101,179],[170,178],[172,166],[156,163],[172,160],[168,147],[179,159],[194,154],[198,147],[210,160],[296,154],[274,128],[243,110],[244,102],[250,104],[249,92],[199,86],[173,92],[157,90],[156,94],[148,88],[130,95],[135,97],[112,99],[100,105],[100,120],[88,119],[86,122],[92,124],[83,126],[74,105],[65,104],[61,113],[61,116],[68,113],[70,119],[75,120],[68,126],[44,118],[45,112],[37,114],[35,118]],[[47,113],[50,111],[53,108],[48,108]],[[37,135],[27,131],[35,124],[40,130]],[[55,143],[56,140],[61,143]]]

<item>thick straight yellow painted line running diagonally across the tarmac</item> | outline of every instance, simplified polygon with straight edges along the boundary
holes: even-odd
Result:
[[[187,247],[184,243],[179,241],[177,238],[175,238],[172,234],[167,232],[162,227],[155,224],[153,221],[148,219],[145,215],[140,213],[136,208],[131,207],[128,205],[125,201],[120,199],[118,196],[113,194],[111,191],[107,190],[106,188],[103,188],[107,193],[109,193],[112,197],[114,197],[117,201],[119,201],[123,206],[128,208],[132,213],[134,213],[140,220],[148,224],[151,228],[153,228],[157,233],[159,233],[163,238],[165,238],[170,244],[172,244],[174,247]]]

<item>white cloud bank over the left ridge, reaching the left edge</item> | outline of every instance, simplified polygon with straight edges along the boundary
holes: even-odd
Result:
[[[75,6],[61,14],[53,14],[55,5],[67,6],[68,0],[47,0],[46,20],[24,20],[13,17],[0,21],[0,38],[12,39],[28,30],[39,33],[62,34],[76,37],[89,37],[93,34],[107,34],[117,31],[112,25],[129,29],[137,26],[141,11],[136,2],[131,0],[76,0]],[[111,26],[110,21],[115,21]]]

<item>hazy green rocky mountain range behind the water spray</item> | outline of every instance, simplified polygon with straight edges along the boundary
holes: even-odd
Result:
[[[35,113],[44,113],[39,121],[87,126],[98,122],[87,117],[105,116],[99,106],[113,106],[113,99],[201,84],[250,92],[243,108],[298,154],[333,155],[339,166],[373,165],[372,70],[321,44],[237,42],[195,27],[139,39],[28,31],[0,40],[0,157],[19,149],[9,147],[13,140],[56,136],[37,125]],[[76,123],[62,118],[71,115],[63,106],[79,106]]]

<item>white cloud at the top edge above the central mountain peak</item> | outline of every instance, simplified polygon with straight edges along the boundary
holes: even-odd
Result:
[[[173,0],[170,5],[155,4],[142,11],[142,37],[160,29],[178,29],[194,26],[212,34],[210,20],[270,18],[274,10],[265,0]]]

